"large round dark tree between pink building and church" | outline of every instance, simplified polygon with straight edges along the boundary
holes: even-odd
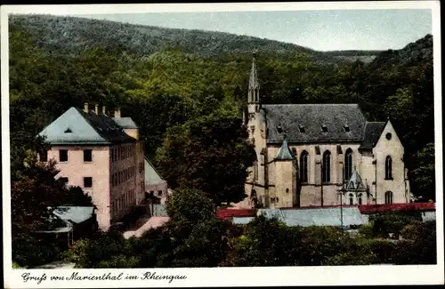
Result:
[[[244,199],[251,149],[239,117],[213,114],[169,129],[156,163],[173,189],[199,189],[221,205]]]

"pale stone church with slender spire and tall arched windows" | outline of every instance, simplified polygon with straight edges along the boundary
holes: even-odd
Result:
[[[252,60],[249,168],[241,207],[409,203],[404,149],[391,121],[368,122],[358,104],[261,104]]]

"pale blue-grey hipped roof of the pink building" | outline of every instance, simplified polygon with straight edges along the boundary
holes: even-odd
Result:
[[[133,142],[111,117],[79,108],[69,108],[38,135],[51,144],[112,144]]]

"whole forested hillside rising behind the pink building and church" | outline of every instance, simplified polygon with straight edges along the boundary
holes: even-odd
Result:
[[[85,101],[121,107],[155,157],[178,125],[211,114],[241,116],[258,49],[263,103],[358,103],[369,121],[389,117],[413,191],[434,193],[431,35],[374,56],[224,33],[14,16],[9,44],[12,164],[22,164],[23,149],[45,125]],[[365,64],[358,57],[375,58]]]

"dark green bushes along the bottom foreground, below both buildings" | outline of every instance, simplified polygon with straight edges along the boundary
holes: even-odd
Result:
[[[203,217],[206,219],[172,220],[140,238],[125,240],[100,234],[78,241],[65,253],[66,260],[75,262],[78,268],[436,263],[435,221],[407,224],[403,229],[406,238],[395,240],[382,235],[353,235],[332,227],[287,227],[263,216],[241,227],[208,214]],[[184,226],[190,222],[194,225]]]

